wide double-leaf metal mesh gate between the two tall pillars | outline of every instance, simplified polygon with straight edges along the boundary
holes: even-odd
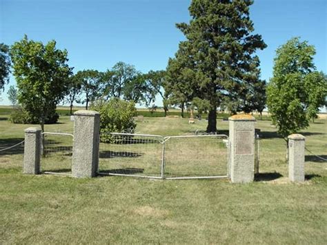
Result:
[[[99,174],[155,179],[228,177],[226,135],[101,135]]]

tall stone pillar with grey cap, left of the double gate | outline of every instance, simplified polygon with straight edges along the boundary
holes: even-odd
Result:
[[[72,176],[95,177],[99,166],[100,114],[78,110],[74,116]]]

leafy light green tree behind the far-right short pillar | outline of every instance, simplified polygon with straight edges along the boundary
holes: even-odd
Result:
[[[309,119],[324,105],[327,82],[315,71],[314,55],[315,47],[298,37],[277,49],[267,105],[279,135],[285,139],[308,127]]]

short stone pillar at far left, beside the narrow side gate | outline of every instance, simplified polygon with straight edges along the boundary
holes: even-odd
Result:
[[[38,175],[41,158],[41,129],[26,128],[23,173]]]

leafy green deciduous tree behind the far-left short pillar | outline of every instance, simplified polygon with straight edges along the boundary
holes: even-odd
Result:
[[[54,40],[43,45],[26,35],[11,48],[19,104],[39,119],[42,130],[46,118],[54,113],[68,89],[71,68],[67,54],[67,50],[56,48]]]

